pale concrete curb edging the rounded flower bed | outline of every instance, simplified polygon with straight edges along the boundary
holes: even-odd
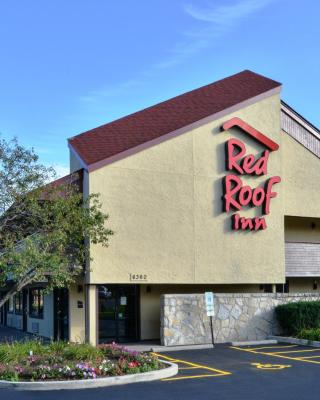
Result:
[[[167,368],[158,371],[144,372],[141,374],[110,376],[91,380],[75,381],[47,381],[47,382],[9,382],[0,381],[0,389],[14,390],[66,390],[66,389],[94,389],[99,387],[126,385],[128,383],[149,382],[158,379],[169,378],[178,373],[177,364],[161,361],[168,365]]]

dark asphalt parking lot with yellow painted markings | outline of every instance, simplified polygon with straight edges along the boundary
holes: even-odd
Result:
[[[93,390],[17,392],[0,390],[0,399],[285,399],[320,397],[320,348],[276,344],[217,346],[159,354],[179,365],[178,375],[149,383]]]

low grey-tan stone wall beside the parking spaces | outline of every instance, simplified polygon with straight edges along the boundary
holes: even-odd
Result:
[[[213,317],[216,343],[266,339],[279,334],[274,309],[294,301],[319,300],[312,293],[215,294]],[[210,319],[203,294],[161,296],[161,344],[211,343]]]

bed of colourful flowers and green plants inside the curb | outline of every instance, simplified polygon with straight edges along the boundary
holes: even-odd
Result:
[[[41,341],[0,344],[0,380],[11,382],[94,380],[165,367],[150,353],[115,343],[98,347]]]

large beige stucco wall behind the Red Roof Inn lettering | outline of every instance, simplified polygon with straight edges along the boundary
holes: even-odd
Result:
[[[224,145],[238,137],[247,152],[264,148],[239,130],[221,132],[230,117],[243,118],[282,148],[280,100],[273,95],[234,114],[90,173],[90,192],[101,193],[115,231],[110,247],[92,246],[91,283],[275,283],[284,281],[282,184],[274,189],[268,228],[231,231],[222,212]],[[270,154],[268,176],[244,177],[254,187],[282,175],[282,152]],[[256,214],[257,213],[257,214]],[[260,210],[241,212],[261,215]]]

